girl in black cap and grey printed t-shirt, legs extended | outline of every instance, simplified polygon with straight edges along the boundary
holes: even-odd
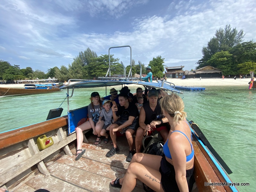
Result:
[[[93,134],[97,135],[97,139],[94,145],[100,143],[100,131],[102,126],[104,125],[104,121],[101,120],[101,127],[98,130],[95,129],[95,125],[99,120],[100,111],[102,109],[102,101],[100,100],[100,94],[98,92],[92,92],[91,94],[91,103],[88,105],[88,117],[89,121],[84,122],[83,124],[76,127],[76,142],[77,142],[77,150],[76,150],[76,161],[80,159],[80,157],[85,153],[85,150],[82,150],[83,143],[83,131],[91,129],[93,130]]]

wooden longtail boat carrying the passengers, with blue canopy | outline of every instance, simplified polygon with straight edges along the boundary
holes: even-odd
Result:
[[[117,137],[120,152],[106,158],[105,154],[112,148],[110,142],[93,145],[96,136],[92,134],[92,129],[86,130],[82,144],[86,152],[79,161],[75,161],[75,128],[83,118],[87,120],[87,106],[70,110],[69,100],[75,88],[96,89],[124,84],[155,87],[182,94],[164,80],[161,83],[150,83],[129,78],[114,80],[101,77],[101,80],[82,80],[74,84],[71,81],[77,80],[68,80],[68,85],[61,87],[67,89],[67,115],[0,133],[0,187],[13,192],[33,192],[40,188],[49,191],[119,191],[110,186],[110,181],[123,177],[128,168],[129,163],[125,161],[128,155],[126,140]],[[212,150],[197,124],[193,121],[189,123],[195,151],[193,191],[238,191],[228,177],[232,171]],[[133,191],[144,191],[139,180]]]

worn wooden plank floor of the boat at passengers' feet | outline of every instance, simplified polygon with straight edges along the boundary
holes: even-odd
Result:
[[[70,146],[72,156],[64,153],[58,154],[45,165],[50,175],[44,175],[37,169],[21,180],[16,186],[11,186],[13,192],[34,192],[44,188],[49,191],[120,191],[120,188],[110,186],[110,181],[116,177],[123,177],[129,163],[125,161],[128,155],[128,143],[125,137],[118,137],[120,151],[113,157],[105,157],[113,147],[111,141],[105,144],[103,140],[99,145],[92,145],[96,136],[90,135],[89,143],[83,143],[86,149],[84,155],[75,161],[76,149]],[[10,189],[9,189],[10,190]],[[142,183],[137,181],[133,190],[144,191]]]

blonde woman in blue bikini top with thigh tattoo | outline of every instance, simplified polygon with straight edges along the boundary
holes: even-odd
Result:
[[[124,178],[110,182],[112,187],[132,191],[139,179],[153,191],[190,191],[193,186],[194,148],[182,99],[172,93],[160,101],[171,130],[164,143],[164,156],[135,153]]]

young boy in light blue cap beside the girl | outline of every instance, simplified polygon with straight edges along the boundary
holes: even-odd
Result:
[[[111,101],[107,100],[107,99],[105,99],[103,101],[102,104],[103,104],[104,109],[101,110],[99,121],[97,122],[97,124],[100,124],[102,117],[104,117],[105,121],[104,121],[104,125],[100,131],[100,135],[105,136],[105,139],[104,139],[105,143],[108,143],[108,141],[109,141],[107,131],[109,130],[109,126],[112,124],[112,116],[113,116],[113,111],[110,108],[110,102]],[[97,126],[97,124],[96,124],[96,126]]]

